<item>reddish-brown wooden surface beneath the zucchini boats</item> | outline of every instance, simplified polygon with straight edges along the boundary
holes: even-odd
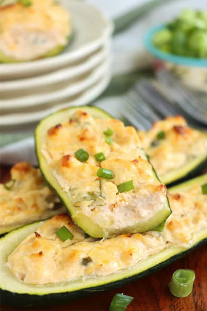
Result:
[[[1,182],[9,179],[9,167],[1,167]],[[186,298],[176,298],[170,294],[168,284],[173,272],[179,268],[194,270],[196,280],[193,292]],[[120,288],[102,292],[87,298],[65,301],[61,305],[47,308],[10,308],[1,306],[1,310],[108,310],[116,293],[134,297],[126,310],[207,310],[207,248],[196,248],[186,257],[172,263],[150,276],[143,277]]]

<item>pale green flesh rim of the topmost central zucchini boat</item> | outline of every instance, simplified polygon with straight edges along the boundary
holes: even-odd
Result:
[[[59,199],[67,207],[73,221],[80,228],[82,228],[83,231],[85,231],[94,238],[112,237],[121,233],[124,234],[124,233],[144,232],[149,231],[160,225],[171,214],[171,209],[169,207],[167,197],[164,207],[160,211],[158,211],[155,215],[153,215],[149,220],[138,222],[133,226],[124,228],[122,231],[121,230],[118,231],[116,229],[103,229],[101,228],[101,226],[94,223],[92,219],[82,214],[80,211],[77,210],[76,207],[73,206],[68,194],[61,189],[58,181],[53,175],[51,169],[47,164],[47,161],[45,160],[42,154],[41,147],[47,134],[47,130],[49,128],[52,128],[53,126],[56,126],[59,123],[68,121],[70,117],[74,114],[74,112],[79,109],[82,109],[88,114],[91,114],[94,118],[111,118],[111,116],[107,114],[105,111],[98,109],[96,107],[88,107],[88,106],[71,107],[68,109],[58,111],[44,118],[35,129],[35,146],[39,168],[43,174],[43,177],[47,180],[47,183],[49,184],[50,188],[57,194]],[[158,179],[154,169],[153,172],[155,178]]]

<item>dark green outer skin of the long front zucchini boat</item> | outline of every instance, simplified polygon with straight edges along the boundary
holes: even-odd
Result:
[[[97,287],[89,287],[87,289],[82,289],[82,290],[75,290],[73,292],[54,293],[54,294],[47,294],[47,295],[18,294],[18,293],[12,293],[8,290],[1,290],[1,301],[2,301],[2,304],[26,308],[26,307],[31,307],[33,305],[46,306],[46,305],[51,305],[51,304],[59,304],[69,299],[72,300],[72,299],[76,299],[80,297],[87,297],[95,293],[98,294],[101,291],[106,291],[106,290],[110,290],[113,288],[119,288],[121,286],[127,285],[131,283],[132,281],[136,281],[144,276],[148,276],[160,269],[163,269],[164,267],[170,265],[171,263],[186,256],[188,253],[192,252],[197,247],[201,245],[205,245],[205,244],[207,244],[207,238],[194,244],[191,248],[188,248],[187,250],[181,253],[178,253],[163,262],[160,262],[156,266],[147,269],[146,271],[143,271],[134,276],[130,276],[123,280],[111,282],[109,284],[105,284],[105,285],[101,285]]]

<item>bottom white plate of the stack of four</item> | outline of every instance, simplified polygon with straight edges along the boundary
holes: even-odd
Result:
[[[21,112],[16,114],[5,114],[1,116],[2,126],[13,126],[24,123],[31,123],[46,117],[59,109],[65,109],[70,106],[85,105],[96,99],[108,86],[111,78],[111,72],[108,70],[103,77],[86,91],[82,92],[75,99],[60,104],[52,105],[50,108],[33,112]]]

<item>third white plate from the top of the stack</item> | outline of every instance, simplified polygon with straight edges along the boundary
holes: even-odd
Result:
[[[13,92],[12,99],[1,99],[1,110],[9,111],[23,107],[40,106],[43,104],[49,104],[57,100],[64,100],[68,97],[77,95],[92,86],[98,80],[100,80],[103,74],[108,70],[110,63],[111,58],[107,57],[106,60],[104,60],[100,65],[95,67],[88,75],[80,77],[78,81],[66,80],[64,81],[64,83],[61,82],[60,85],[57,84],[56,86],[53,86],[53,88],[56,88],[55,91],[51,91],[51,89],[53,89],[51,88],[51,86],[47,88],[47,91],[45,92],[44,89],[42,90],[38,88],[39,90],[42,90],[38,91],[38,94],[37,92],[34,92],[34,94],[23,97],[16,97],[21,94],[21,92]],[[62,84],[65,87],[62,87]]]

